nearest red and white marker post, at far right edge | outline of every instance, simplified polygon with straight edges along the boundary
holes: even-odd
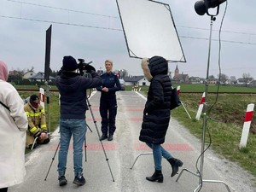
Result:
[[[241,141],[239,145],[240,149],[247,147],[247,138],[250,131],[251,122],[253,119],[253,109],[254,109],[253,103],[247,105],[247,113],[244,117],[244,123],[242,127],[242,132],[241,132]]]

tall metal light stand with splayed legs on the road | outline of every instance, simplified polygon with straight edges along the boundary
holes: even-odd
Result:
[[[210,38],[209,38],[208,61],[207,61],[207,79],[206,79],[206,82],[205,82],[205,84],[206,84],[206,90],[205,90],[206,97],[205,97],[205,102],[203,103],[204,107],[203,107],[203,124],[202,124],[202,135],[201,135],[201,157],[200,157],[201,164],[200,164],[200,170],[197,173],[195,173],[195,172],[189,171],[188,169],[183,169],[180,172],[179,176],[177,177],[176,182],[178,181],[179,177],[182,176],[183,171],[186,171],[186,172],[190,172],[191,174],[199,177],[199,184],[196,187],[196,189],[194,190],[194,192],[200,191],[201,187],[202,187],[202,184],[204,182],[206,182],[206,183],[223,183],[225,185],[226,189],[229,192],[231,192],[229,186],[226,183],[224,183],[223,181],[203,179],[203,166],[204,166],[204,153],[205,153],[205,132],[206,132],[206,127],[207,127],[208,77],[209,77],[209,66],[210,66],[210,56],[211,56],[211,41],[212,41],[212,22],[214,20],[216,20],[215,15],[210,15],[210,16],[211,16],[211,24],[210,24]]]

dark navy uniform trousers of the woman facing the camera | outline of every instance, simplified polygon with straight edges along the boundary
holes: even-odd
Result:
[[[102,116],[102,134],[113,135],[115,131],[115,117],[117,114],[117,102],[115,94],[101,97],[100,113]],[[109,130],[108,130],[109,128]]]

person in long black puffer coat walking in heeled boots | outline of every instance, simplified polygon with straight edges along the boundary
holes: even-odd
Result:
[[[172,154],[161,146],[162,143],[165,143],[166,131],[171,116],[172,83],[167,75],[168,62],[165,58],[161,56],[153,56],[150,59],[144,58],[142,68],[150,86],[143,111],[143,125],[139,140],[153,149],[155,170],[154,174],[151,177],[146,177],[146,179],[151,182],[158,181],[162,183],[164,179],[161,172],[162,156],[172,166],[171,177],[177,174],[179,166],[183,166],[181,160],[173,158]]]

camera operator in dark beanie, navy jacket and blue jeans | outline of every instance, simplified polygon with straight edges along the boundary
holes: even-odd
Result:
[[[61,117],[60,117],[60,151],[59,151],[59,185],[66,185],[65,172],[67,168],[67,152],[70,139],[73,136],[73,183],[84,185],[83,177],[83,143],[87,130],[85,112],[88,108],[86,102],[86,89],[95,88],[102,85],[102,79],[96,73],[95,68],[86,65],[84,69],[90,73],[91,78],[81,76],[76,73],[78,69],[77,61],[70,55],[64,56],[63,66],[55,84],[61,95]]]

